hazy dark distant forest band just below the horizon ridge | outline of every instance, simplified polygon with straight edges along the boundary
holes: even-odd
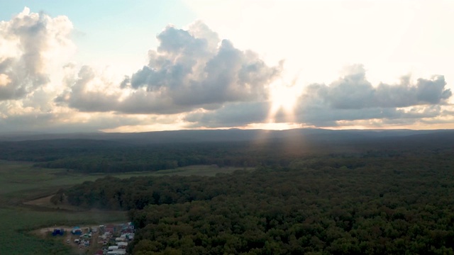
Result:
[[[218,131],[207,135],[223,135],[222,130]],[[363,132],[352,131],[346,137],[343,133],[331,134],[327,131],[312,136],[283,132],[282,137],[261,137],[252,133],[250,140],[182,142],[170,139],[173,133],[166,132],[167,138],[161,142],[147,140],[145,136],[143,142],[135,144],[127,143],[127,140],[87,139],[0,142],[0,159],[35,162],[38,167],[74,169],[86,173],[157,171],[194,164],[275,168],[287,167],[301,158],[319,156],[353,157],[355,159],[347,165],[351,168],[361,164],[358,161],[362,157],[400,157],[407,152],[414,153],[414,148],[424,148],[420,153],[431,153],[436,149],[452,149],[454,142],[453,132],[377,137],[379,133],[371,132],[372,135],[365,136]],[[203,132],[197,134],[201,136]],[[247,134],[236,131],[233,135],[241,137]],[[238,137],[231,138],[235,140]]]

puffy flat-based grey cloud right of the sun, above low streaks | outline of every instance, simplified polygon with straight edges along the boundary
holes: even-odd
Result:
[[[444,103],[452,95],[445,85],[445,78],[438,75],[420,78],[416,84],[410,84],[408,77],[404,77],[399,84],[382,83],[374,87],[367,81],[364,67],[355,65],[349,74],[329,86],[311,84],[306,96],[319,97],[334,109],[395,108]]]

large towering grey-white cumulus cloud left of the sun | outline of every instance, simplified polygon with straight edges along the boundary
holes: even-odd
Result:
[[[167,26],[157,40],[160,44],[148,52],[148,64],[119,86],[111,86],[109,96],[102,98],[101,91],[84,89],[94,77],[79,73],[77,81],[69,84],[70,91],[56,101],[80,111],[167,114],[212,110],[225,103],[266,100],[269,84],[282,69],[282,63],[269,67],[255,52],[220,40],[200,21],[188,30]]]

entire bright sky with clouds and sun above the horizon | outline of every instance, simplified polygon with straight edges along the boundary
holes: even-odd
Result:
[[[454,1],[0,6],[0,132],[454,128]]]

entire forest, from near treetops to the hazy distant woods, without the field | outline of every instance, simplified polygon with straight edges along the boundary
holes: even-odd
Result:
[[[214,177],[106,177],[51,199],[128,210],[138,227],[133,254],[454,254],[453,132],[227,133],[0,142],[0,159],[86,173],[255,168]]]

